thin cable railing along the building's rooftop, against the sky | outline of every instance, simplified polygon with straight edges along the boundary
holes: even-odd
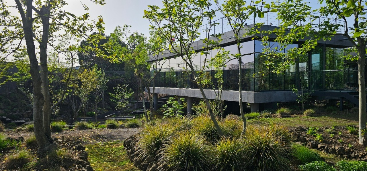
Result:
[[[344,29],[337,30],[337,33],[344,33],[345,22],[341,19],[331,19],[331,18],[319,17],[315,20],[315,19],[309,18],[305,22],[303,22],[303,21],[297,22],[297,25],[305,25],[307,23],[312,23],[314,25],[320,25],[321,23],[323,23],[325,21],[329,21],[332,24],[341,24],[341,25],[343,25]],[[207,35],[209,35],[209,37],[211,37],[211,36],[214,36],[215,34],[225,33],[227,31],[232,30],[230,25],[228,24],[228,21],[225,18],[219,18],[215,21],[212,21],[212,23],[217,23],[217,24],[212,25],[210,30],[209,30],[209,27],[210,27],[209,23],[200,26],[200,35],[199,35],[200,40],[206,38]],[[268,12],[268,13],[264,14],[263,18],[259,18],[255,15],[252,15],[249,19],[246,20],[245,26],[255,24],[255,23],[264,23],[264,25],[269,25],[269,26],[280,26],[282,21],[277,19],[277,13]],[[209,31],[209,33],[208,33],[208,31]]]

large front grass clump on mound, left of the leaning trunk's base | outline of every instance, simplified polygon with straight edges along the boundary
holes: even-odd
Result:
[[[170,144],[164,145],[160,162],[175,170],[210,170],[211,148],[200,135],[183,131],[172,138]]]

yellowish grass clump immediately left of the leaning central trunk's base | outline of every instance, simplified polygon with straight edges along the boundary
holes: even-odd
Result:
[[[203,135],[209,141],[218,141],[219,134],[209,116],[199,115],[192,120],[192,130]]]

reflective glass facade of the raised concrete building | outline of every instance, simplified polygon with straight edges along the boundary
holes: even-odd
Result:
[[[287,53],[290,48],[297,48],[298,44],[288,45],[283,51]],[[280,44],[270,42],[268,47],[264,47],[261,41],[253,40],[241,43],[241,54],[252,52],[263,52],[264,48],[278,50]],[[231,54],[237,53],[237,46],[230,45],[224,47]],[[205,56],[197,53],[193,55],[193,66],[195,70],[200,70],[206,62],[217,55],[217,50],[212,50],[205,60]],[[345,62],[344,49],[317,46],[305,55],[299,55],[295,64],[280,74],[270,73],[266,76],[253,78],[254,73],[266,70],[264,65],[267,57],[258,53],[242,57],[241,66],[243,73],[243,91],[279,91],[301,88],[313,90],[340,90],[358,86],[356,64]],[[233,57],[231,56],[230,59]],[[280,59],[283,60],[283,59]],[[223,89],[238,90],[238,60],[226,61],[223,68]],[[168,88],[197,88],[190,82],[192,74],[186,73],[186,63],[181,57],[166,59],[160,62],[161,72],[155,79],[156,87]],[[155,70],[155,68],[152,68]],[[190,69],[188,69],[190,71]],[[217,79],[214,78],[216,71],[212,68],[205,68],[203,77],[212,80],[217,88]],[[203,88],[212,89],[211,84],[204,84]]]

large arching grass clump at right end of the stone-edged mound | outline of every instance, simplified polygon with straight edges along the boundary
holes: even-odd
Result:
[[[247,131],[244,138],[244,154],[248,157],[247,167],[251,170],[291,170],[290,161],[284,157],[290,147],[263,129]]]

